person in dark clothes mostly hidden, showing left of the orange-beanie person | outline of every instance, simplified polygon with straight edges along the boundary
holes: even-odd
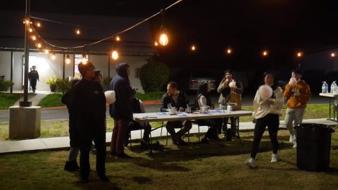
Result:
[[[68,108],[69,114],[69,139],[70,139],[70,151],[68,154],[68,159],[65,162],[64,169],[70,172],[74,172],[80,169],[79,165],[77,165],[77,154],[80,151],[79,139],[78,139],[78,132],[76,126],[76,118],[75,113],[72,108],[72,104],[70,103],[70,96],[72,94],[72,89],[74,85],[79,82],[80,80],[73,80],[70,83],[70,90],[68,90],[65,94],[63,94],[61,102],[65,104]]]

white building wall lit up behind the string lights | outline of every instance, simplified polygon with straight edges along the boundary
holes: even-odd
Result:
[[[30,57],[36,56],[34,61],[30,60],[30,67],[37,66],[39,72],[39,82],[37,82],[37,90],[49,91],[49,85],[46,84],[46,78],[52,76],[63,77],[63,54],[56,53],[56,59],[51,59],[51,54],[45,53],[30,53]],[[67,55],[65,55],[67,56]],[[23,89],[23,52],[13,52],[13,90]],[[130,83],[132,87],[136,87],[139,92],[144,93],[141,82],[137,78],[137,69],[142,68],[147,63],[147,56],[120,56],[118,61],[111,58],[111,73],[113,78],[116,75],[115,65],[118,63],[128,63],[130,65]],[[101,70],[104,78],[108,77],[108,56],[90,55],[91,61],[96,69]],[[73,54],[70,54],[70,64],[65,64],[65,79],[73,77]],[[6,75],[6,80],[10,79],[11,75],[11,51],[0,51],[0,75]]]

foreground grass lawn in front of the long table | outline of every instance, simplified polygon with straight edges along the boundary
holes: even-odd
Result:
[[[126,148],[133,159],[107,156],[109,183],[96,179],[93,155],[89,184],[79,183],[78,172],[63,170],[68,151],[1,155],[0,189],[337,189],[338,133],[332,136],[332,168],[328,172],[299,170],[296,148],[287,142],[287,131],[281,130],[278,135],[281,161],[270,163],[270,139],[265,132],[256,170],[244,165],[253,133],[243,132],[243,147],[238,140],[198,144],[191,139],[189,146],[156,146],[149,156],[134,144]]]

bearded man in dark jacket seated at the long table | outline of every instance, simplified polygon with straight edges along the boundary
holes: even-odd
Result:
[[[169,105],[169,106],[168,106]],[[168,111],[168,107],[176,108],[176,110],[184,111],[187,108],[187,97],[182,91],[177,90],[176,82],[168,82],[167,93],[162,97],[161,112]],[[175,127],[180,127],[180,131],[175,132]],[[173,144],[187,145],[187,142],[181,138],[183,134],[192,129],[192,122],[185,121],[168,121],[165,127],[173,139]]]

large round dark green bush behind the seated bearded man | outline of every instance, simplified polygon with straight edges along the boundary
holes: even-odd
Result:
[[[145,92],[161,91],[169,79],[169,68],[165,63],[150,62],[140,70],[139,79]]]

